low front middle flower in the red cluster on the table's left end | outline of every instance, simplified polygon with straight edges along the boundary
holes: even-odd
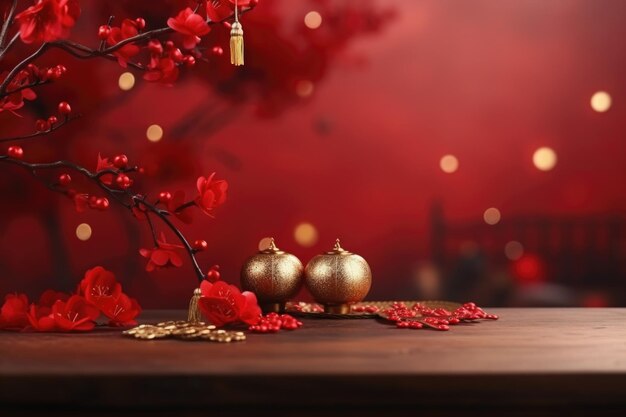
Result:
[[[67,302],[58,300],[52,306],[55,328],[61,332],[92,330],[100,311],[80,295],[71,296]]]

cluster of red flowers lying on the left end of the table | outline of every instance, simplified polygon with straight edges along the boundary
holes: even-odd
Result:
[[[122,292],[110,271],[88,270],[75,294],[45,291],[37,303],[26,294],[8,294],[0,309],[0,329],[38,332],[89,331],[103,314],[109,326],[132,326],[141,312],[139,303]]]

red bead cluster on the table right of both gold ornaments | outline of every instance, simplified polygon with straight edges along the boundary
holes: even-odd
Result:
[[[474,303],[465,303],[454,311],[448,311],[445,308],[429,308],[419,303],[409,308],[404,303],[396,302],[383,310],[383,314],[401,329],[421,329],[427,326],[436,330],[450,330],[450,325],[461,321],[498,319],[498,316],[487,314]]]

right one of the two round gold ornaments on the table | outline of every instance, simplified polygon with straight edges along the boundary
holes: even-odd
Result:
[[[315,256],[304,270],[309,292],[326,313],[347,314],[350,304],[365,298],[372,285],[372,271],[361,256],[341,247]]]

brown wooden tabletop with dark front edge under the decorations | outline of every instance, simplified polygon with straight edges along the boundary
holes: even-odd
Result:
[[[0,415],[624,415],[626,309],[489,311],[449,332],[304,320],[232,344],[0,332]]]

